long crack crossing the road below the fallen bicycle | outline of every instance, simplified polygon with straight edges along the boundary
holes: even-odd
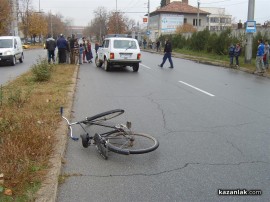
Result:
[[[111,174],[111,175],[84,175],[84,174],[78,174],[78,173],[73,173],[73,174],[68,174],[68,173],[64,173],[63,176],[65,177],[98,177],[98,178],[108,178],[108,177],[134,177],[134,176],[146,176],[146,177],[151,177],[151,176],[156,176],[156,175],[162,175],[162,174],[166,174],[166,173],[171,173],[171,172],[175,172],[175,171],[180,171],[183,170],[185,168],[187,168],[188,166],[191,165],[198,165],[198,166],[240,166],[242,164],[270,164],[269,162],[265,162],[265,161],[243,161],[243,162],[238,162],[238,163],[199,163],[199,162],[195,162],[195,163],[185,163],[183,166],[178,167],[178,168],[174,168],[174,169],[170,169],[170,170],[164,170],[164,171],[160,171],[160,172],[156,172],[156,173],[133,173],[133,174]]]

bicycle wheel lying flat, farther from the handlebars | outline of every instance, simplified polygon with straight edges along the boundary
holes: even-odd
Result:
[[[106,146],[110,151],[119,154],[144,154],[156,150],[159,147],[159,142],[153,136],[145,133],[126,135],[123,132],[115,132],[106,137]]]

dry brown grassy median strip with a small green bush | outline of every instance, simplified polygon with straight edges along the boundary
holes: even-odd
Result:
[[[0,201],[33,201],[56,146],[59,109],[75,65],[49,65],[40,58],[31,71],[0,88]]]

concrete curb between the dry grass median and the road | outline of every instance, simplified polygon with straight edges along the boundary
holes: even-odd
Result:
[[[76,66],[72,77],[72,84],[67,95],[67,107],[64,110],[64,116],[70,118],[75,95],[79,66]],[[60,110],[60,109],[59,109]],[[61,174],[62,160],[66,151],[68,127],[65,120],[59,124],[55,131],[55,147],[52,157],[49,160],[49,171],[45,180],[42,182],[41,189],[35,195],[36,202],[55,202],[57,198],[58,178]]]

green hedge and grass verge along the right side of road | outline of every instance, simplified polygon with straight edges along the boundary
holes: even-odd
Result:
[[[181,31],[181,30],[180,30]],[[258,47],[258,39],[268,39],[267,36],[262,35],[260,32],[253,37],[253,49],[252,49],[252,62],[251,64],[245,63],[245,43],[246,36],[239,35],[234,37],[231,34],[231,30],[224,30],[217,33],[211,33],[208,30],[193,32],[191,37],[186,38],[183,33],[177,33],[173,35],[162,35],[159,40],[162,44],[165,42],[165,38],[169,38],[172,41],[174,52],[185,55],[186,58],[194,59],[200,58],[206,61],[221,62],[229,66],[229,47],[231,44],[240,43],[241,56],[239,57],[240,67],[244,67],[250,71],[255,70],[255,58]],[[234,61],[235,62],[235,61]],[[268,70],[269,71],[269,70]],[[269,72],[268,72],[269,73]]]

